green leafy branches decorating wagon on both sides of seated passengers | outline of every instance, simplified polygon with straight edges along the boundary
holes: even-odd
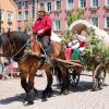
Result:
[[[70,35],[70,32],[66,29],[64,33],[63,33],[63,36],[62,37],[62,45],[63,45],[63,50],[64,48],[66,47],[68,43],[71,41],[73,35]],[[105,64],[107,66],[109,66],[109,49],[105,47],[104,45],[104,41],[100,40],[98,38],[98,36],[95,35],[95,31],[89,27],[87,28],[87,37],[86,37],[86,49],[85,49],[85,52],[86,52],[86,57],[85,59],[89,58],[89,57],[100,57],[104,59],[105,61]],[[92,64],[93,66],[93,64]],[[89,68],[92,68],[89,65]]]

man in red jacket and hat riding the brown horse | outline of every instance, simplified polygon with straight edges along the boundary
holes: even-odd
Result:
[[[49,15],[46,15],[45,8],[40,7],[38,9],[38,17],[34,26],[32,27],[32,34],[34,38],[35,38],[35,35],[37,35],[37,39],[41,43],[41,47],[46,56],[46,62],[48,63],[51,63],[50,53],[52,52],[50,51],[51,27],[52,27],[51,19],[49,17]]]

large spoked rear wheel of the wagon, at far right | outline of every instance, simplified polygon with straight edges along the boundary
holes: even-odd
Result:
[[[94,72],[93,89],[101,89],[105,83],[106,69],[102,64],[98,64]]]

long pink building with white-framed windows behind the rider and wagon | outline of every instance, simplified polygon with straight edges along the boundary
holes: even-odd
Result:
[[[83,19],[109,32],[109,0],[16,0],[16,2],[20,1],[28,2],[27,9],[24,5],[19,9],[19,16],[22,11],[22,21],[24,20],[23,14],[26,10],[28,11],[26,19],[27,16],[35,17],[37,8],[44,5],[52,19],[52,29],[59,35],[68,27],[66,17],[69,16],[69,10],[73,12],[78,9],[84,11]],[[21,25],[22,22],[19,22],[17,27],[21,27]]]

